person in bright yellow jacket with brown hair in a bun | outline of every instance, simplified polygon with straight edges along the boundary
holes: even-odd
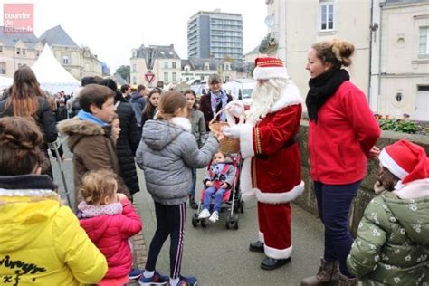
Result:
[[[106,258],[40,175],[43,135],[31,118],[0,119],[0,277],[15,284],[94,284]]]

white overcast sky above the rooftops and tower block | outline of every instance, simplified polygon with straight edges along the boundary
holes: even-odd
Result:
[[[243,15],[243,52],[258,45],[267,29],[263,22],[267,8],[264,0],[2,0],[1,3],[33,3],[34,33],[61,24],[78,45],[106,62],[110,71],[129,65],[131,49],[140,44],[174,43],[182,59],[187,58],[187,20],[198,11],[239,13]],[[3,5],[0,5],[3,25]]]

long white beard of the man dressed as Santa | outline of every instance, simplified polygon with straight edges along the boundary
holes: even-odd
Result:
[[[267,116],[272,105],[280,99],[281,92],[286,88],[288,80],[270,79],[257,85],[252,93],[252,105],[246,111],[246,118],[258,122]]]

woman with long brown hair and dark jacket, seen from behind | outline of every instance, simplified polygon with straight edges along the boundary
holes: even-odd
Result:
[[[52,114],[50,103],[44,98],[34,72],[27,66],[14,72],[14,84],[9,88],[7,98],[0,101],[0,118],[6,116],[33,118],[39,129],[42,130],[44,137],[40,148],[45,156],[49,157],[47,143],[55,142],[58,138],[56,120]],[[59,152],[62,156],[61,146]],[[52,155],[55,157],[54,152]],[[53,178],[49,161],[44,172]]]

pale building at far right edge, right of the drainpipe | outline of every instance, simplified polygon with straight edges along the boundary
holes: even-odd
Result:
[[[429,121],[429,1],[386,1],[380,14],[377,110]]]

